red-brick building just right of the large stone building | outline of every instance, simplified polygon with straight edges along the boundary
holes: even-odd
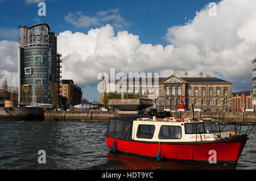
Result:
[[[232,92],[232,111],[251,109],[252,95],[250,91]]]

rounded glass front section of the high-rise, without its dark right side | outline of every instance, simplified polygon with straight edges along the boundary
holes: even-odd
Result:
[[[24,28],[20,36],[20,86],[30,104],[51,103],[52,52],[47,23]],[[53,58],[54,59],[54,58]],[[24,101],[24,100],[23,100]]]

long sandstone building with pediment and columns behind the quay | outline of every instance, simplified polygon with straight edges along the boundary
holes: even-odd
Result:
[[[188,77],[188,73],[185,73],[185,77],[177,77],[172,74],[166,78],[156,74],[154,78],[134,77],[127,78],[126,84],[120,82],[104,82],[104,78],[102,78],[100,100],[103,100],[105,94],[110,92],[110,87],[115,87],[115,92],[121,92],[123,89],[124,92],[137,95],[138,98],[152,99],[154,108],[159,111],[177,110],[181,96],[186,110],[192,110],[192,104],[195,109],[201,110],[232,110],[232,82],[209,75],[203,77],[203,73],[200,73],[199,77]]]

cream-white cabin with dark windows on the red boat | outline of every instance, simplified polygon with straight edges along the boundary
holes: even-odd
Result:
[[[213,119],[192,120],[192,118],[153,119],[148,117],[133,121],[132,140],[147,142],[200,142],[229,137],[229,132],[219,131]],[[220,135],[221,134],[221,135]]]

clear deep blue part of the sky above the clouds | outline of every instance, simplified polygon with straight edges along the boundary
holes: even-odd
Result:
[[[65,22],[64,16],[69,12],[81,11],[85,15],[93,16],[98,11],[118,9],[119,14],[129,22],[128,26],[116,28],[117,31],[126,30],[140,37],[142,43],[153,45],[167,45],[163,39],[167,28],[184,24],[195,16],[195,12],[203,9],[212,0],[200,1],[88,1],[88,0],[49,0],[46,3],[46,16],[38,16],[38,3],[26,3],[20,0],[0,1],[1,28],[15,28],[18,25],[31,26],[39,22],[48,23],[51,31],[59,34],[65,30],[72,32],[87,32],[90,27],[77,28]],[[187,17],[187,20],[185,20]],[[5,39],[5,37],[1,37]],[[18,40],[18,36],[9,38]]]

